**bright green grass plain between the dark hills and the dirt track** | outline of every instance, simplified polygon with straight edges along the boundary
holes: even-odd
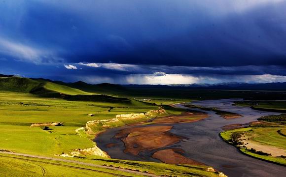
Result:
[[[145,113],[158,109],[156,105],[136,100],[132,100],[131,103],[131,105],[124,105],[66,101],[43,99],[26,93],[0,93],[0,148],[15,152],[50,155],[70,152],[75,148],[91,148],[93,147],[92,141],[76,135],[74,131],[78,127],[85,126],[87,121],[111,119],[118,114]],[[110,107],[113,109],[110,110]],[[169,113],[181,113],[181,110],[169,106],[166,106],[166,110]],[[95,116],[90,117],[88,114],[95,114]],[[110,126],[116,127],[145,119],[124,120]],[[52,133],[40,127],[30,127],[32,123],[44,122],[63,122],[64,126],[50,126],[53,129]],[[102,129],[99,127],[95,130],[101,131]]]

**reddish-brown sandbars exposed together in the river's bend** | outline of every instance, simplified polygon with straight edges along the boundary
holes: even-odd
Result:
[[[153,153],[152,157],[164,163],[205,165],[184,157],[182,149],[169,148],[162,150],[162,148],[179,143],[183,139],[183,137],[170,133],[169,131],[173,126],[168,124],[195,122],[207,117],[208,114],[202,112],[186,112],[181,115],[154,118],[148,121],[148,123],[151,122],[151,125],[145,124],[146,121],[133,124],[132,126],[136,127],[122,129],[114,138],[124,142],[125,153],[139,155],[141,152],[158,149]]]

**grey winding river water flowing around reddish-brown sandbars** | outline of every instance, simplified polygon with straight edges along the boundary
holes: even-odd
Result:
[[[195,105],[217,107],[220,110],[238,113],[243,115],[243,117],[224,119],[212,111],[204,111],[209,114],[209,118],[198,122],[173,124],[173,128],[170,132],[185,137],[186,139],[170,147],[183,149],[186,157],[213,166],[229,177],[282,177],[286,172],[286,167],[246,156],[237,148],[225,143],[218,136],[219,132],[222,131],[221,127],[225,125],[248,123],[257,120],[257,118],[261,116],[279,114],[252,110],[248,107],[233,106],[233,101],[236,100],[237,99],[223,99],[192,102],[192,104]],[[176,106],[186,108],[183,105]],[[158,160],[150,157],[153,152],[140,154],[141,157],[123,152],[123,142],[114,139],[113,136],[118,133],[120,129],[127,127],[130,126],[108,129],[104,133],[101,133],[94,141],[98,147],[106,151],[111,158],[158,162]],[[110,143],[116,146],[108,148],[107,145]]]

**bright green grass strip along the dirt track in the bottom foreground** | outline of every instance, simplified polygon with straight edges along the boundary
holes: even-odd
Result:
[[[17,157],[17,159],[15,159]],[[63,157],[62,157],[63,158]],[[127,160],[116,160],[116,159],[107,159],[107,158],[98,158],[93,156],[88,159],[75,159],[75,158],[64,158],[69,160],[76,160],[86,163],[92,163],[96,165],[113,165],[114,167],[123,167],[129,169],[137,169],[141,171],[148,171],[155,175],[173,175],[178,177],[218,177],[218,173],[208,172],[205,169],[208,167],[204,166],[180,166],[180,165],[169,165],[164,163],[156,162],[141,162],[141,161],[127,161]],[[67,167],[68,166],[68,167]],[[74,167],[85,168],[85,170],[74,169]],[[140,177],[139,175],[108,170],[103,168],[95,168],[84,165],[77,165],[68,162],[56,162],[53,160],[44,160],[37,158],[28,158],[22,156],[15,156],[9,154],[0,154],[0,171],[1,174],[7,174],[6,176],[36,176],[42,175],[42,168],[46,171],[45,176],[63,176],[70,177],[72,176],[90,176],[94,177],[108,177],[108,174],[99,173],[90,171],[97,170],[102,172],[108,172],[132,177]],[[5,169],[2,171],[2,169]],[[70,170],[70,171],[69,171]],[[26,174],[25,174],[26,172]],[[58,177],[58,176],[57,176]]]

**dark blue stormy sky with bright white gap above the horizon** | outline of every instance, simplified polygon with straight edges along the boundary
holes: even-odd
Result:
[[[286,82],[286,0],[2,0],[0,73],[66,82]]]

